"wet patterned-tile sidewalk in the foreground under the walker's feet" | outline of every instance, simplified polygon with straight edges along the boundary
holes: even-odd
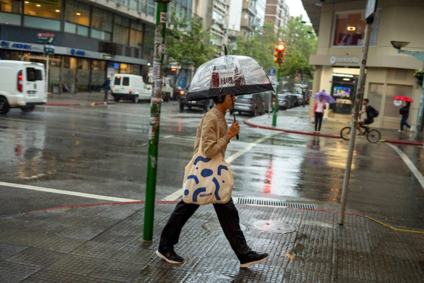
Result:
[[[156,203],[152,243],[144,204],[64,207],[0,218],[0,282],[422,282],[424,234],[362,215],[237,205],[251,248],[270,258],[239,268],[212,205],[185,225],[182,266],[155,255],[174,203]],[[288,233],[281,233],[288,232]]]

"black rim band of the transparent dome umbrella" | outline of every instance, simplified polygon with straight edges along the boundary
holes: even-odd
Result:
[[[233,94],[237,96],[237,95],[263,92],[263,91],[274,91],[274,88],[272,87],[271,83],[217,87],[217,88],[187,92],[186,100],[188,101],[207,100],[207,99],[211,99],[212,97],[217,97],[220,95]]]

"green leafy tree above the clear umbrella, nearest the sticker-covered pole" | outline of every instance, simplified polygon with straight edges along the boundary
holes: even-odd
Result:
[[[188,67],[197,68],[206,61],[215,57],[216,48],[209,44],[210,31],[203,27],[202,19],[187,16],[179,17],[175,10],[169,19],[170,29],[166,36],[166,63],[176,63],[180,69]],[[175,79],[178,81],[180,72]]]

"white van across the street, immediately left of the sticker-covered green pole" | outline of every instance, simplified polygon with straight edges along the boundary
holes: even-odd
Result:
[[[116,102],[123,99],[137,103],[139,100],[150,100],[152,91],[140,76],[115,74],[114,79],[111,81],[111,94]]]

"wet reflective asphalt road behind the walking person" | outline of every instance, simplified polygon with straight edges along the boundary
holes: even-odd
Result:
[[[202,110],[162,103],[156,199],[181,188]],[[40,106],[0,116],[0,181],[109,197],[144,200],[150,105]],[[248,116],[238,116],[240,121]],[[227,114],[230,122],[231,116]],[[271,118],[270,118],[271,121]],[[226,158],[268,138],[231,162],[233,197],[266,198],[338,210],[348,143],[242,124]],[[424,171],[423,148],[400,145]],[[347,211],[397,227],[424,228],[424,189],[384,143],[358,139]],[[108,202],[0,185],[0,215],[71,204]]]

